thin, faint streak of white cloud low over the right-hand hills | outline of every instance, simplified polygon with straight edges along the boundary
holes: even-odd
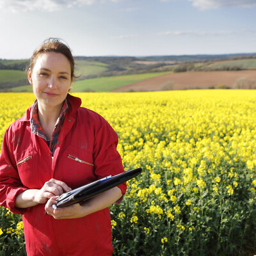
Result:
[[[166,31],[159,33],[161,36],[221,36],[221,35],[232,35],[234,31]]]

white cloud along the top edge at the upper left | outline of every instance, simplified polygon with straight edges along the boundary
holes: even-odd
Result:
[[[12,12],[31,12],[35,10],[54,12],[60,10],[61,6],[83,6],[106,1],[118,3],[125,0],[0,0],[0,10],[10,10]]]

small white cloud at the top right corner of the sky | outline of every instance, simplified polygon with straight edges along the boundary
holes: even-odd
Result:
[[[250,8],[256,6],[255,0],[188,0],[199,10],[209,10],[228,7]]]

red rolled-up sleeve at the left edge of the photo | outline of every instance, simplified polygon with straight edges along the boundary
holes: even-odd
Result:
[[[15,207],[15,198],[23,191],[27,190],[20,181],[17,171],[15,157],[9,141],[10,127],[6,130],[3,138],[3,145],[0,154],[0,205],[10,209],[12,213],[24,214],[28,209]]]

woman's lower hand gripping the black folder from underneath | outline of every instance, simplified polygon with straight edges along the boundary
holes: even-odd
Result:
[[[54,219],[74,219],[84,216],[83,207],[78,203],[69,205],[67,207],[53,209],[52,205],[57,203],[56,198],[58,198],[58,196],[52,196],[52,198],[48,200],[47,204],[45,204],[45,212],[51,215]]]

